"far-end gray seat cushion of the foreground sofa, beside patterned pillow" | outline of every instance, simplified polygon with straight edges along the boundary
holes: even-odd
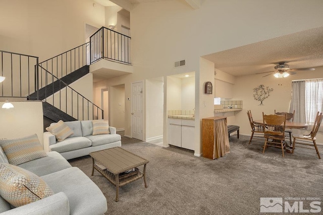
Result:
[[[47,152],[46,154],[47,156],[44,158],[39,158],[20,164],[18,167],[28,170],[38,176],[47,175],[72,167],[71,164],[65,158],[63,158],[60,153]]]

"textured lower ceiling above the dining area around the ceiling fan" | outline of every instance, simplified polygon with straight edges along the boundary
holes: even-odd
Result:
[[[278,62],[290,68],[323,66],[323,27],[277,37],[203,56],[233,76],[274,71]],[[306,73],[308,71],[297,71]],[[266,74],[264,74],[266,75]]]

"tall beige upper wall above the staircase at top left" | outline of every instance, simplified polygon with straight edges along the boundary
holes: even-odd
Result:
[[[85,42],[85,23],[104,26],[104,7],[89,0],[1,1],[0,49],[43,61]]]

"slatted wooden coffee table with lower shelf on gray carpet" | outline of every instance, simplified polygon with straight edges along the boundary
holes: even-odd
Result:
[[[119,187],[129,184],[143,177],[145,187],[148,187],[146,182],[146,164],[148,160],[141,158],[120,147],[91,152],[93,167],[108,181],[116,186],[116,201],[119,201]],[[144,165],[143,173],[137,167]],[[130,173],[125,171],[134,170]]]

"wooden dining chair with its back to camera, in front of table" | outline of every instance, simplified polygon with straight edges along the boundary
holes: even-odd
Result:
[[[283,157],[285,146],[285,124],[286,124],[286,114],[285,115],[265,115],[262,112],[263,119],[263,131],[264,131],[264,153],[267,146],[273,146],[276,148],[281,148]]]

